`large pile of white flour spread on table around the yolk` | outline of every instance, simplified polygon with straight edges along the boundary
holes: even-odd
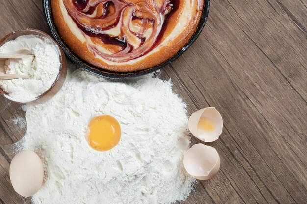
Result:
[[[186,107],[171,82],[146,76],[109,82],[75,71],[45,104],[29,107],[21,149],[40,152],[46,167],[34,204],[168,204],[184,200],[194,181],[183,167]],[[90,118],[115,117],[117,146],[92,150]]]

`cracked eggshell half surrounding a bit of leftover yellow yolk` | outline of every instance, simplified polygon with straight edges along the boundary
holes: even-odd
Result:
[[[214,131],[207,132],[198,128],[201,117],[212,120],[215,127]],[[193,113],[189,118],[188,127],[193,136],[204,142],[213,142],[222,134],[223,119],[221,114],[214,107],[208,107]]]

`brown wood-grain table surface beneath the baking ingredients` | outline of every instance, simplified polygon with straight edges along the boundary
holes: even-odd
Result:
[[[41,4],[2,0],[0,38],[21,28],[49,33]],[[305,0],[212,0],[204,31],[162,78],[172,79],[189,113],[214,106],[224,119],[223,134],[210,144],[221,169],[183,204],[307,203]],[[24,115],[0,98],[2,204],[25,200],[8,175],[9,145],[26,132]]]

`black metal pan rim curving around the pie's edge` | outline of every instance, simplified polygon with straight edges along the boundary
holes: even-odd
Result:
[[[55,28],[55,23],[53,20],[53,14],[51,12],[51,0],[43,0],[43,10],[44,10],[44,16],[46,18],[48,27],[51,31],[51,34],[55,41],[60,45],[60,47],[63,49],[66,56],[72,60],[73,62],[77,63],[78,66],[81,68],[84,68],[88,71],[90,71],[93,74],[102,76],[107,79],[128,79],[128,78],[134,78],[138,76],[143,76],[152,72],[155,72],[161,68],[164,68],[166,65],[170,64],[177,58],[179,58],[198,38],[198,36],[201,34],[209,16],[209,10],[210,10],[210,0],[205,0],[203,13],[201,16],[201,19],[199,20],[198,26],[192,36],[192,38],[189,40],[189,42],[184,45],[173,57],[170,59],[164,61],[163,63],[154,66],[153,68],[148,68],[141,71],[136,72],[112,72],[108,70],[104,70],[102,68],[98,68],[96,66],[91,65],[90,63],[82,60],[79,58],[62,40],[60,34]]]

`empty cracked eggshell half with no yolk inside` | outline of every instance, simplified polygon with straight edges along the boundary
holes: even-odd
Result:
[[[217,174],[221,161],[215,148],[195,144],[186,151],[183,165],[188,174],[195,179],[208,180]]]

